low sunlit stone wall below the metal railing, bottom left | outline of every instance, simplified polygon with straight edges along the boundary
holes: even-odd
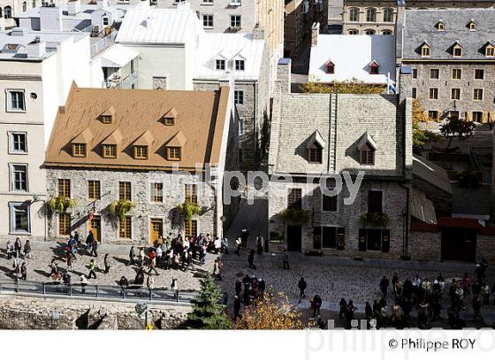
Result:
[[[0,296],[0,328],[16,329],[143,329],[145,316],[130,303],[100,303],[40,297]],[[172,329],[187,320],[191,307],[148,305],[148,324]]]

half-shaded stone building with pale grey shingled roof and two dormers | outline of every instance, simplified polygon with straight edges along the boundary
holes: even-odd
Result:
[[[396,95],[274,97],[269,155],[270,249],[349,257],[407,254],[411,100]],[[325,176],[348,173],[355,190]],[[287,181],[290,176],[292,181]],[[375,219],[377,217],[377,219]]]

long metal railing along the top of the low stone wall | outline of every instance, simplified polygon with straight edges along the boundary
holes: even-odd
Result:
[[[164,305],[191,305],[198,292],[194,290],[148,289],[142,286],[120,286],[80,283],[65,284],[62,282],[32,282],[1,280],[0,295],[15,294],[34,297],[65,297],[82,300],[121,300],[121,301],[149,301],[153,304]]]

